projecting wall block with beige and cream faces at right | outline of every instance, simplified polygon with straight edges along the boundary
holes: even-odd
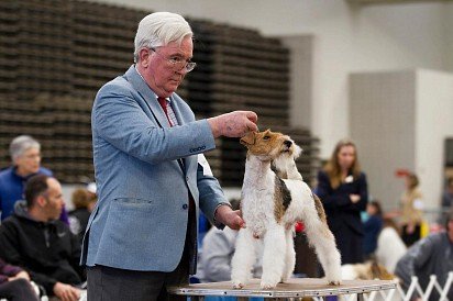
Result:
[[[351,133],[372,196],[396,208],[404,181],[395,171],[404,168],[419,176],[427,209],[439,207],[444,141],[453,137],[453,74],[357,73],[351,76]]]

